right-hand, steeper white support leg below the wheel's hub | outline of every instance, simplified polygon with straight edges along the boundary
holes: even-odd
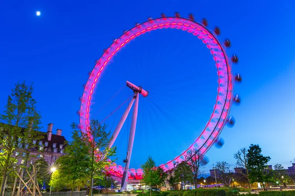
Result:
[[[127,190],[127,181],[128,181],[128,170],[130,165],[130,159],[131,159],[131,153],[133,148],[133,142],[134,142],[134,136],[135,136],[135,129],[136,129],[136,122],[137,122],[137,113],[138,113],[138,102],[139,102],[139,93],[136,93],[135,98],[135,104],[132,114],[132,122],[130,127],[130,133],[129,133],[129,142],[128,142],[128,151],[127,151],[127,160],[126,160],[126,166],[122,178],[121,183],[121,191]]]

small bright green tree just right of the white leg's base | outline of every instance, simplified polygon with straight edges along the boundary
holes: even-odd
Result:
[[[146,183],[146,185],[149,185],[149,188],[151,188],[152,185],[156,185],[159,176],[159,173],[156,170],[156,163],[152,159],[151,156],[148,156],[148,159],[144,165],[142,165],[143,169],[143,179],[142,181]],[[149,191],[151,196],[151,191]]]

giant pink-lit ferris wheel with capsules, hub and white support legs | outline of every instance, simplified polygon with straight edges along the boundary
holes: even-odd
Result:
[[[99,58],[99,60],[96,61],[93,70],[91,73],[89,73],[89,78],[84,88],[83,97],[81,98],[81,107],[79,112],[81,130],[89,132],[89,119],[91,119],[89,111],[94,88],[99,84],[98,79],[105,71],[105,68],[108,66],[113,56],[117,54],[117,52],[125,45],[128,45],[131,40],[149,31],[164,28],[174,28],[193,34],[199,38],[209,49],[217,68],[217,98],[213,107],[213,112],[211,113],[205,128],[201,132],[201,135],[197,137],[195,141],[180,155],[178,155],[173,160],[168,161],[167,163],[161,164],[159,167],[161,167],[164,171],[173,169],[176,163],[185,161],[185,154],[192,148],[198,149],[200,153],[204,155],[214,144],[221,147],[224,142],[219,138],[219,135],[223,127],[226,124],[235,124],[234,117],[229,116],[229,113],[233,102],[240,103],[240,97],[238,95],[234,95],[233,86],[235,81],[241,82],[242,78],[239,73],[236,73],[235,75],[232,73],[231,66],[232,63],[236,64],[238,62],[237,56],[233,55],[231,58],[228,58],[225,51],[225,48],[229,48],[231,46],[230,40],[226,39],[223,43],[219,42],[217,36],[220,34],[220,29],[215,27],[211,32],[207,29],[207,25],[208,23],[206,19],[203,19],[201,23],[198,23],[194,20],[192,14],[190,14],[188,18],[180,17],[179,13],[176,13],[173,17],[167,17],[162,14],[161,18],[148,18],[147,22],[136,24],[135,27],[131,28],[130,30],[124,31],[124,33],[118,39],[114,40],[108,49],[104,50],[103,55]],[[129,88],[130,93],[132,93],[132,98],[122,116],[120,117],[117,127],[113,132],[113,139],[109,145],[109,147],[113,146],[123,124],[126,122],[127,117],[131,116],[130,112],[133,107],[127,156],[124,160],[125,166],[123,167],[118,164],[113,164],[109,168],[110,173],[122,178],[121,190],[126,190],[128,179],[141,179],[143,174],[142,169],[130,169],[129,166],[130,162],[132,161],[131,154],[137,127],[138,110],[140,110],[139,99],[148,97],[149,92],[147,89],[145,89],[145,86],[139,86],[138,84],[131,82],[132,81],[126,81],[126,88]]]

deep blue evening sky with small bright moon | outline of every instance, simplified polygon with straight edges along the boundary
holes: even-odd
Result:
[[[234,167],[233,153],[250,144],[259,144],[270,164],[287,167],[295,158],[294,8],[293,0],[2,1],[0,111],[17,81],[33,82],[42,130],[54,123],[54,130],[62,129],[70,140],[70,124],[79,123],[83,84],[103,49],[148,17],[193,13],[197,21],[207,18],[210,29],[218,25],[221,41],[231,40],[227,52],[238,55],[233,70],[243,77],[235,86],[242,104],[231,110],[236,125],[224,128],[221,149],[213,146],[207,152],[205,170],[216,161]],[[101,121],[132,95],[126,80],[150,92],[140,98],[131,168],[140,167],[148,155],[157,164],[172,160],[198,137],[212,112],[217,76],[209,51],[196,37],[175,29],[135,39],[102,74],[92,100],[93,118]],[[126,104],[106,119],[109,129],[114,130]],[[126,154],[130,123],[131,115],[115,142],[118,163]]]

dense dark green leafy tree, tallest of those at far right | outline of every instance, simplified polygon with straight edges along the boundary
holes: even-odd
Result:
[[[265,170],[268,168],[267,163],[270,160],[269,156],[263,156],[262,150],[259,145],[251,144],[248,149],[247,159],[248,159],[248,169],[249,179],[251,183],[261,182],[263,183],[267,178],[267,173]],[[265,184],[263,184],[265,189]]]

